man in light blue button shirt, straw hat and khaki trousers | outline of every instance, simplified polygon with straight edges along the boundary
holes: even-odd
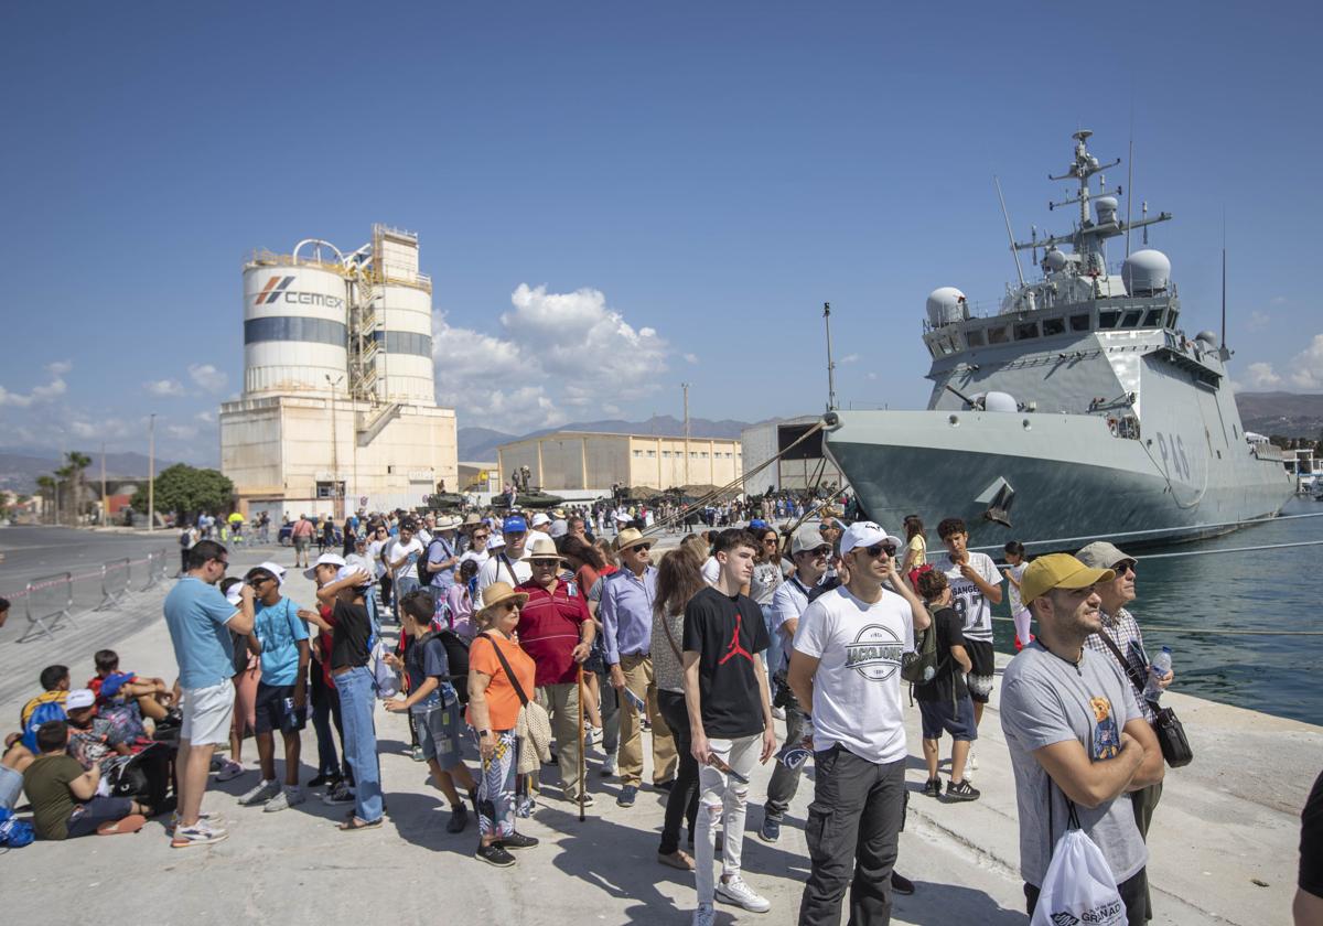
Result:
[[[638,701],[652,724],[652,783],[659,788],[675,778],[676,754],[671,729],[658,709],[658,688],[652,677],[652,601],[656,598],[658,570],[650,561],[652,541],[634,528],[615,538],[622,569],[602,583],[602,620],[606,664],[611,687],[622,694],[620,704],[620,795],[617,803],[631,807],[643,779],[643,729]],[[631,698],[624,689],[634,694]]]

